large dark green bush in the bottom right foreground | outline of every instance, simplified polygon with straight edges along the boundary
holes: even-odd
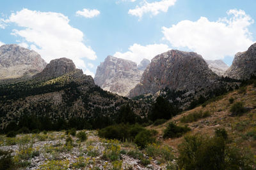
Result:
[[[179,169],[252,169],[253,158],[227,145],[223,138],[186,136],[179,146]]]

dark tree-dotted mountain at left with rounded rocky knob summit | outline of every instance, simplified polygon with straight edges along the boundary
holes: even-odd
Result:
[[[52,76],[57,77],[50,78]],[[90,122],[98,128],[118,117],[124,104],[129,104],[131,110],[141,116],[149,110],[148,104],[100,89],[92,76],[76,69],[72,60],[56,59],[36,74],[36,78],[0,84],[0,129],[19,120],[29,121],[28,117],[40,121],[46,118],[54,124],[77,118],[76,124]]]

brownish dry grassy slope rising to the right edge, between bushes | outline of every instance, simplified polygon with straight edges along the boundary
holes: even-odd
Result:
[[[242,101],[245,107],[254,109],[244,113],[241,117],[230,117],[230,107],[232,106],[229,102],[230,97],[235,99],[234,103]],[[211,114],[210,117],[188,123],[188,126],[191,128],[191,132],[189,132],[190,134],[207,134],[213,136],[215,129],[225,128],[228,132],[228,136],[232,139],[232,143],[243,148],[251,148],[252,152],[256,155],[256,140],[246,136],[246,134],[253,131],[253,129],[256,132],[255,106],[256,88],[249,85],[246,87],[245,92],[241,89],[234,90],[233,92],[218,97],[217,101],[213,101],[205,107],[198,106],[193,110],[185,111],[184,113],[173,117],[172,120],[169,120],[163,125],[151,125],[148,129],[156,129],[159,132],[159,139],[165,144],[172,146],[174,150],[177,150],[184,137],[163,140],[161,136],[163,136],[163,130],[166,125],[169,122],[176,122],[179,125],[184,125],[180,123],[180,118],[199,111],[209,111]]]

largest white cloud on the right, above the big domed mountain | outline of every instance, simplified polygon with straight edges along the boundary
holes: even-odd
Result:
[[[223,59],[243,52],[253,44],[248,26],[253,19],[243,10],[227,11],[228,17],[211,22],[205,17],[192,22],[182,20],[176,25],[163,27],[164,39],[173,47],[187,47],[205,59]]]

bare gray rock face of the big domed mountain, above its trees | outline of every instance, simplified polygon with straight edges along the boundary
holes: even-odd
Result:
[[[170,50],[151,60],[140,83],[130,91],[129,97],[156,94],[165,87],[193,93],[214,86],[217,79],[217,74],[209,69],[201,55]]]

